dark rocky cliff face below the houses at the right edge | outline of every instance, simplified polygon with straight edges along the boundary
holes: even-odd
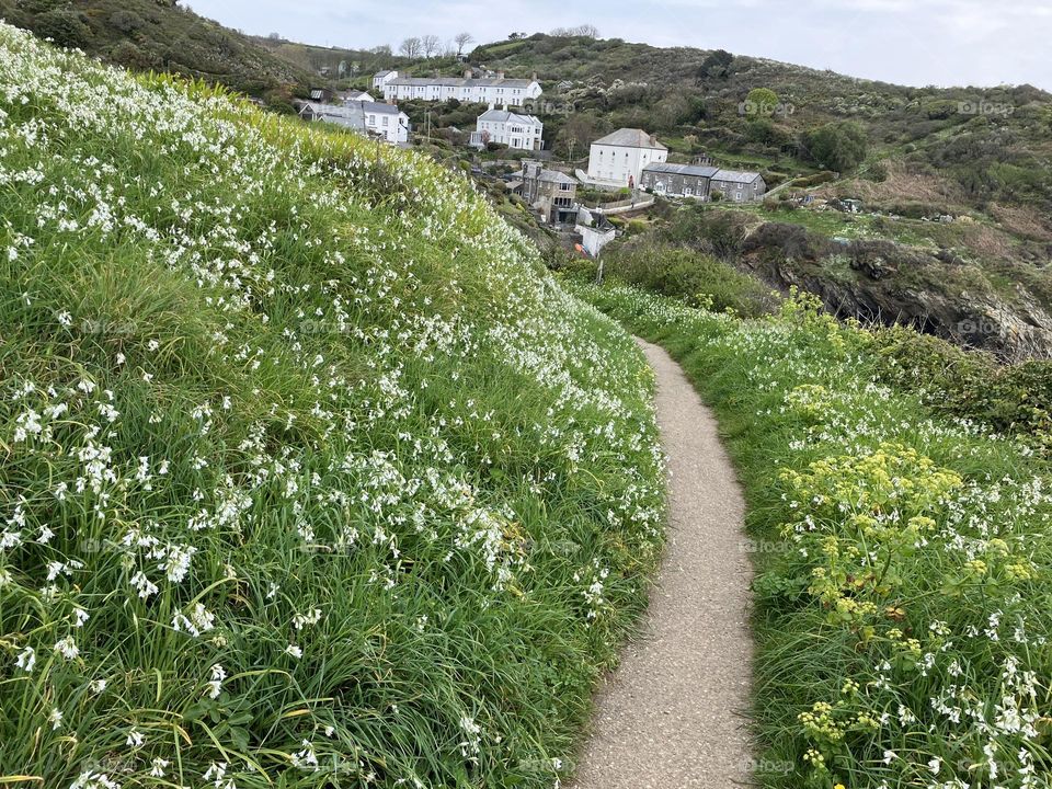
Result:
[[[954,284],[967,264],[950,250],[827,240],[768,222],[746,238],[741,265],[771,287],[817,295],[842,318],[912,325],[1006,361],[1052,357],[1049,309],[1021,284],[1010,294]]]

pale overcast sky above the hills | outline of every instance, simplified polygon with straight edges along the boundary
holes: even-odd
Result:
[[[912,85],[1052,90],[1052,0],[184,0],[247,33],[345,47],[594,24],[604,38],[728,49]]]

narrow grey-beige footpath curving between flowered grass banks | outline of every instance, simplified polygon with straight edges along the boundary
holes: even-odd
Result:
[[[751,568],[744,503],[716,421],[679,366],[640,342],[658,375],[668,456],[668,544],[641,638],[596,698],[574,789],[750,784]]]

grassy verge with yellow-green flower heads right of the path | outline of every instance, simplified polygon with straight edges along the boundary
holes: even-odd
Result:
[[[737,466],[761,785],[1048,787],[1042,442],[882,384],[884,345],[810,299],[743,321],[575,291],[681,362]]]

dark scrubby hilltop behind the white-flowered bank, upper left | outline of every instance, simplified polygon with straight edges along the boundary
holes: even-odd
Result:
[[[275,105],[312,79],[175,0],[0,0],[0,19],[118,66],[205,79]]]

